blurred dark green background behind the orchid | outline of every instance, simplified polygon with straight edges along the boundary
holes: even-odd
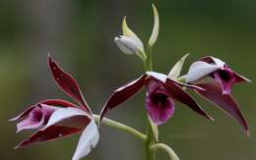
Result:
[[[233,70],[254,81],[256,1],[160,0],[160,36],[154,48],[156,71],[167,73],[185,53],[189,64],[203,55],[220,57]],[[46,57],[51,52],[62,67],[79,81],[93,111],[98,113],[114,88],[143,73],[141,61],[122,54],[113,42],[121,33],[121,20],[148,41],[153,27],[148,0],[1,0],[0,1],[0,125],[3,160],[72,157],[79,135],[15,150],[30,132],[16,134],[7,122],[27,106],[46,98],[67,97],[49,75]],[[247,138],[233,119],[195,95],[217,120],[208,122],[177,104],[173,118],[160,126],[160,140],[182,160],[256,159],[255,85],[239,84],[233,95],[248,120]],[[112,111],[108,117],[145,131],[143,92]],[[130,134],[100,129],[100,142],[85,159],[141,160],[141,141]],[[159,160],[167,159],[164,152]]]

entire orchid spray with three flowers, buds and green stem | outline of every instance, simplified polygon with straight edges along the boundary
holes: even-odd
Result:
[[[78,82],[66,73],[49,55],[48,66],[57,85],[77,104],[61,99],[46,99],[30,106],[18,117],[10,121],[18,121],[17,133],[24,130],[36,130],[30,137],[22,141],[16,148],[26,147],[43,141],[62,138],[81,133],[73,160],[88,155],[99,139],[98,128],[104,124],[138,136],[145,142],[147,159],[156,159],[156,150],[164,149],[171,159],[179,159],[174,151],[159,141],[158,127],[166,123],[173,115],[176,101],[189,107],[196,114],[213,121],[204,109],[187,92],[191,89],[206,100],[222,109],[229,117],[234,118],[243,131],[249,135],[249,128],[237,102],[231,96],[234,83],[250,81],[231,70],[222,60],[206,56],[194,62],[186,75],[181,76],[182,67],[188,54],[183,56],[165,75],[153,71],[152,57],[160,28],[157,8],[153,5],[155,25],[148,42],[147,49],[141,39],[127,26],[126,18],[122,22],[122,35],[114,38],[118,48],[129,55],[137,55],[145,66],[145,74],[136,80],[115,89],[104,104],[99,115],[94,115],[87,104]],[[146,111],[148,113],[147,133],[104,118],[106,114],[131,98],[143,87],[146,88]],[[96,122],[98,125],[96,125]]]

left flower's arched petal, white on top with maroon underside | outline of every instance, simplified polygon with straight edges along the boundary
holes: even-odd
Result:
[[[78,108],[58,108],[55,112],[53,112],[48,123],[41,130],[46,130],[53,125],[83,129],[91,122],[91,120],[92,117],[88,113]]]

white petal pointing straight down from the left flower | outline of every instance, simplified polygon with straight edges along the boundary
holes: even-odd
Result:
[[[99,134],[96,126],[95,120],[92,120],[91,123],[86,127],[84,132],[81,134],[77,149],[73,155],[72,160],[79,160],[87,156],[93,148],[96,147],[96,144],[99,140]]]

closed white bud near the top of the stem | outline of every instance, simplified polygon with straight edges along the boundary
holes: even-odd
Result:
[[[135,54],[140,50],[141,47],[140,43],[138,43],[136,40],[124,35],[116,36],[114,41],[117,47],[125,54]]]

